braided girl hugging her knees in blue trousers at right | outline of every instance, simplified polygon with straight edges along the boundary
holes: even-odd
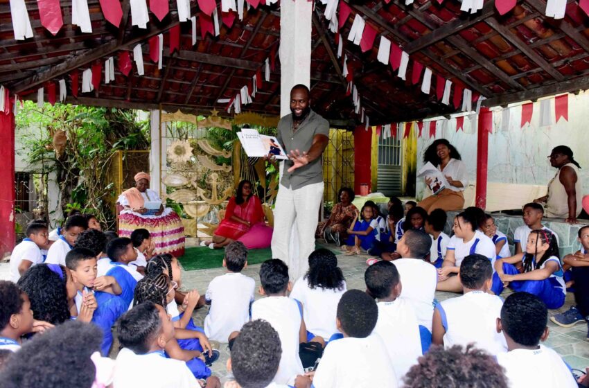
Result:
[[[523,267],[523,268],[522,268]],[[520,273],[520,268],[523,273]],[[513,291],[534,294],[547,308],[560,308],[565,303],[565,281],[559,258],[559,245],[554,234],[538,229],[527,238],[526,253],[495,262],[493,288],[499,295],[509,285]]]

